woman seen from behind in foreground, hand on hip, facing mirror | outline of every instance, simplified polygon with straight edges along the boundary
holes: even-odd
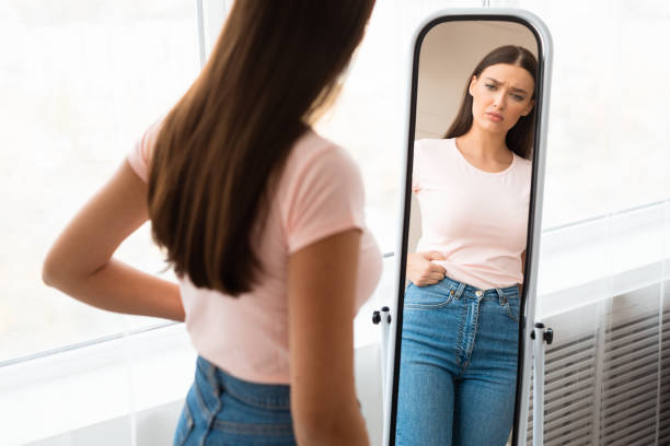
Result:
[[[44,281],[90,305],[185,319],[199,357],[175,444],[368,444],[353,317],[381,255],[358,167],[310,124],[372,5],[236,1],[198,79],[45,260]],[[178,285],[112,257],[147,219]]]

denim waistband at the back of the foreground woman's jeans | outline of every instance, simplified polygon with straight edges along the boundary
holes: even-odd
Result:
[[[197,367],[216,396],[227,391],[249,404],[266,409],[290,409],[290,387],[285,384],[252,383],[238,378],[198,355]]]

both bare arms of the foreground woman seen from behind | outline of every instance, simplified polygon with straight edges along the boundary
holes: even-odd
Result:
[[[113,257],[147,220],[147,185],[124,162],[51,246],[44,282],[97,308],[183,321],[176,283]],[[360,232],[350,230],[289,257],[291,414],[298,444],[369,444],[354,384],[359,245]]]

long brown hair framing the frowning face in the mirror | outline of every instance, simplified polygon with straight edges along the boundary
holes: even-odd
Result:
[[[533,54],[528,49],[520,46],[506,45],[498,47],[486,55],[484,59],[477,63],[472,74],[470,74],[467,78],[465,92],[463,94],[463,102],[461,103],[461,107],[459,108],[459,113],[453,119],[453,122],[444,134],[446,139],[457,138],[467,133],[473,121],[472,96],[467,91],[470,82],[473,77],[477,77],[478,79],[482,71],[484,71],[487,67],[497,63],[513,64],[528,71],[533,77],[533,81],[535,82],[535,89],[531,99],[535,98],[535,92],[538,91],[538,60],[535,59],[535,56],[533,56]],[[524,159],[530,159],[532,155],[535,109],[536,107],[533,107],[531,113],[529,113],[527,116],[521,116],[515,127],[507,131],[507,136],[505,137],[505,143],[509,150]]]

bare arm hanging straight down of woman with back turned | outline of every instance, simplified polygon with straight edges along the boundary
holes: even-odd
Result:
[[[360,232],[289,258],[291,413],[298,444],[368,445],[354,386],[354,293]]]

